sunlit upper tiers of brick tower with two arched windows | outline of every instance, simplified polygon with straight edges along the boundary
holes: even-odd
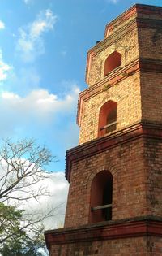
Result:
[[[162,7],[136,4],[87,53],[79,144],[139,122],[162,124]]]

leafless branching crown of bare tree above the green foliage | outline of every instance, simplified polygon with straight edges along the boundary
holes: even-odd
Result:
[[[36,189],[33,185],[47,177],[45,167],[52,161],[49,150],[34,140],[4,141],[0,148],[0,202],[37,200],[48,194],[42,186]]]

